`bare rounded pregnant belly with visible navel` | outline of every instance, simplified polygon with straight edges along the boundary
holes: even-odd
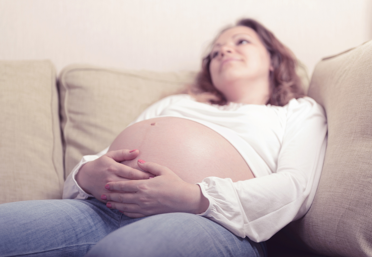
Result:
[[[159,117],[135,123],[123,130],[109,151],[138,149],[134,160],[122,162],[141,170],[137,160],[168,167],[188,183],[209,176],[233,182],[254,178],[239,152],[220,134],[195,121]]]

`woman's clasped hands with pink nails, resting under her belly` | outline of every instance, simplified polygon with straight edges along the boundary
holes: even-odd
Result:
[[[205,212],[209,201],[198,185],[190,184],[167,167],[138,160],[145,172],[120,162],[132,160],[139,150],[116,150],[84,164],[76,175],[78,185],[110,209],[131,218],[169,212]]]

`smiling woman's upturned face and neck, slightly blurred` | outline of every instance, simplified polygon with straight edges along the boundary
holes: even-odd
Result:
[[[250,27],[227,29],[214,42],[209,71],[212,83],[228,101],[244,102],[241,97],[248,94],[267,102],[272,69],[269,52]]]

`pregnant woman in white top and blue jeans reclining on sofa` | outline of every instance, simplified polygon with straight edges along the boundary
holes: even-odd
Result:
[[[311,206],[327,123],[260,23],[223,30],[190,94],[148,107],[68,176],[0,205],[0,256],[266,256]]]

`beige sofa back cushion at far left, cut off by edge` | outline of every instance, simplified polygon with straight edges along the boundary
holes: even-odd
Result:
[[[0,61],[0,131],[0,203],[61,198],[63,154],[50,61]]]

